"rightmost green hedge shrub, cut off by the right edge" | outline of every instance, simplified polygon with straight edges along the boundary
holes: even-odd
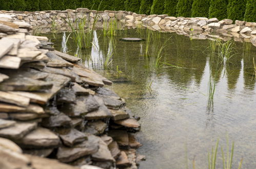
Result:
[[[256,22],[256,1],[247,0],[244,20],[247,22]]]

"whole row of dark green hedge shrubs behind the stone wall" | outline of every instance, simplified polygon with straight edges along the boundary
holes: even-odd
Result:
[[[101,0],[0,0],[0,10],[44,11],[80,7],[97,10],[100,3]],[[255,0],[104,0],[99,9],[256,22]]]

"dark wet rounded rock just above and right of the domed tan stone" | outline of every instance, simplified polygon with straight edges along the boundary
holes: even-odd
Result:
[[[64,113],[60,113],[57,115],[50,116],[48,118],[44,118],[42,121],[42,125],[48,128],[70,126],[72,125],[72,120]]]

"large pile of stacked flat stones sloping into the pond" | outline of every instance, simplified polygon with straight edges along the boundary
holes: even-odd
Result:
[[[137,168],[140,124],[112,82],[31,28],[0,16],[0,168]]]

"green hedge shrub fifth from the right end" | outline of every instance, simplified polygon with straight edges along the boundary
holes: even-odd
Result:
[[[191,17],[193,0],[179,0],[177,4],[177,16]]]

